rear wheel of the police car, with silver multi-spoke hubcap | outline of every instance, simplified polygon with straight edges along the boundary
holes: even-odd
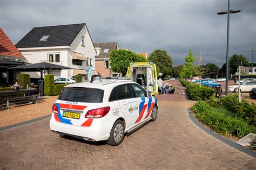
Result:
[[[107,140],[107,144],[117,146],[124,140],[124,123],[118,120],[114,123],[110,132],[110,138]]]

